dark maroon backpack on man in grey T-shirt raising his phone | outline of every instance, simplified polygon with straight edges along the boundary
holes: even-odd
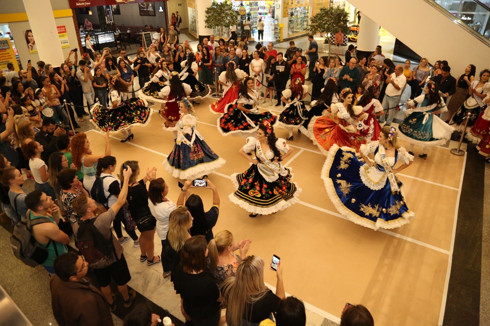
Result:
[[[114,252],[118,258],[116,250],[111,239],[107,241],[100,233],[97,226],[94,225],[96,218],[90,218],[86,221],[78,221],[78,231],[76,232],[76,246],[80,254],[85,257],[89,267],[100,269],[113,263],[111,254]]]

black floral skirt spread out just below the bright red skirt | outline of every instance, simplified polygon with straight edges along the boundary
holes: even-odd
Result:
[[[253,122],[254,126],[250,124],[247,118]],[[240,136],[249,136],[250,133],[255,132],[259,129],[259,124],[263,121],[268,121],[272,126],[275,125],[277,116],[273,115],[269,111],[264,113],[242,113],[238,109],[236,101],[230,103],[225,108],[225,113],[218,118],[218,130],[223,136],[229,134],[238,134]]]

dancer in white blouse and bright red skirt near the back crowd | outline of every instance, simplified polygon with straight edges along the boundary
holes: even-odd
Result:
[[[222,114],[224,108],[229,103],[232,103],[238,98],[242,79],[245,77],[245,72],[235,68],[235,62],[230,61],[226,71],[221,72],[218,78],[218,83],[224,86],[223,96],[209,106],[213,113]]]

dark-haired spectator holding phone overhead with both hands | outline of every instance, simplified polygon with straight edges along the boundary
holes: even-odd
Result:
[[[203,180],[206,182],[199,182]],[[185,205],[194,218],[193,225],[189,230],[191,236],[203,235],[206,238],[206,241],[209,242],[214,238],[213,227],[216,225],[218,216],[220,215],[220,195],[218,194],[216,186],[210,180],[203,180],[195,179],[184,183],[182,191],[185,191],[185,197],[179,196],[177,207]],[[203,186],[204,184],[205,186]],[[194,194],[191,195],[190,189],[196,186],[211,189],[213,191],[213,204],[207,212],[204,211],[201,197]]]

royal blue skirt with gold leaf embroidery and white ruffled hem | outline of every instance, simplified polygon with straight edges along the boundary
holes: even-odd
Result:
[[[373,230],[393,229],[410,222],[415,216],[399,192],[391,191],[390,182],[380,190],[371,190],[361,179],[366,164],[357,159],[353,149],[332,146],[321,170],[321,178],[335,208],[352,222]]]

